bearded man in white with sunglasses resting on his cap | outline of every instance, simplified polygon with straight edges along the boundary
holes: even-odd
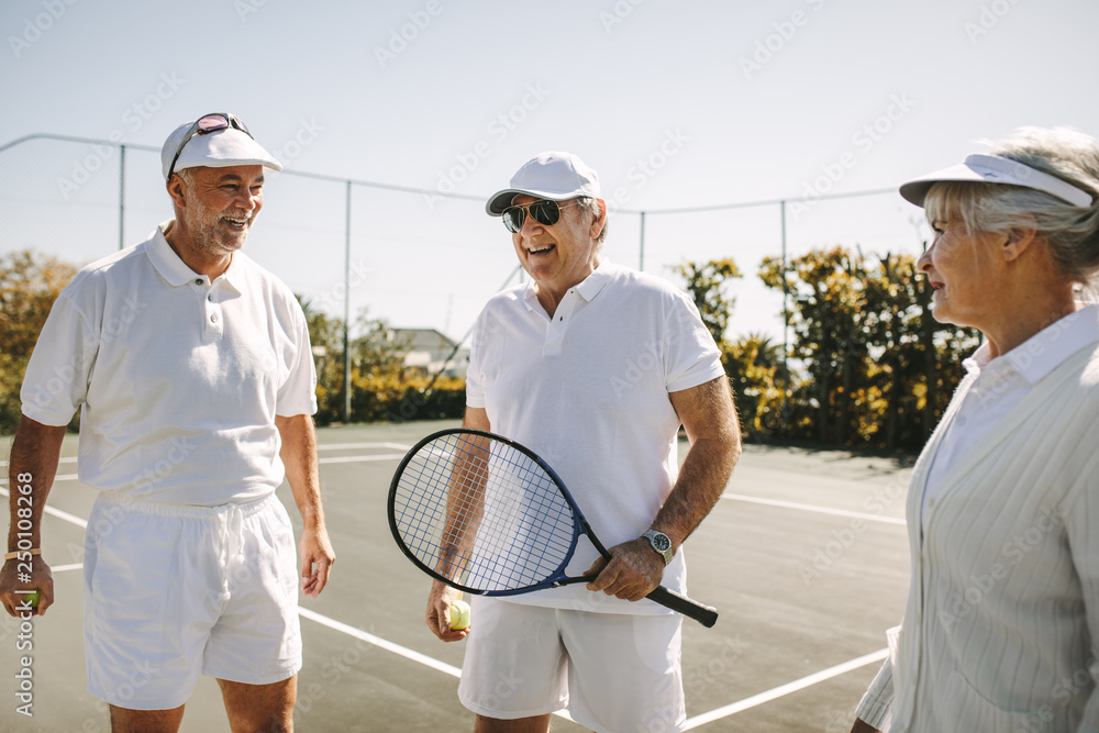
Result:
[[[306,595],[335,555],[306,319],[240,252],[264,170],[281,166],[227,113],[177,127],[160,162],[175,219],[80,270],[27,365],[9,471],[31,510],[11,503],[0,601],[13,615],[26,612],[20,590],[40,591],[40,614],[54,602],[42,510],[79,409],[80,480],[99,490],[85,540],[88,689],[112,730],[178,730],[210,675],[234,732],[289,731],[301,636],[284,477],[304,520]]]

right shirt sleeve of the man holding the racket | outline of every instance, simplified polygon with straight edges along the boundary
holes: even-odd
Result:
[[[677,292],[665,325],[665,386],[669,392],[723,377],[721,352],[695,303]]]

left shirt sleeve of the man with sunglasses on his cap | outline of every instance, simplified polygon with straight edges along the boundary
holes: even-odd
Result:
[[[67,425],[88,397],[99,333],[63,291],[31,353],[20,390],[22,412],[43,425]]]

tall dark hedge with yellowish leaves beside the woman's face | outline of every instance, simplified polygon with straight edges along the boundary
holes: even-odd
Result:
[[[793,355],[803,367],[791,436],[875,447],[923,445],[961,379],[975,332],[931,318],[931,288],[909,255],[845,247],[790,263],[764,259],[761,278],[791,293]]]

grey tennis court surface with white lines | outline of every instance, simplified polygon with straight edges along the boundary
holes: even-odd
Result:
[[[324,592],[301,603],[298,731],[473,730],[473,714],[456,696],[462,646],[437,641],[424,626],[430,580],[397,548],[386,521],[389,482],[404,452],[456,424],[319,431],[337,559]],[[9,438],[3,445],[7,455]],[[66,437],[44,519],[43,554],[54,570],[56,603],[30,630],[0,618],[5,732],[110,730],[106,706],[86,691],[80,563],[95,493],[76,479],[76,437]],[[686,447],[681,441],[680,455]],[[710,630],[684,622],[691,730],[850,730],[852,711],[885,656],[885,630],[903,611],[901,518],[910,473],[890,458],[745,446],[724,498],[685,546],[690,595],[721,612]],[[582,507],[582,489],[570,488]],[[7,481],[0,490],[7,497]],[[278,495],[300,526],[289,487]],[[26,642],[33,648],[21,649]],[[33,717],[16,712],[23,682],[15,675],[24,656],[32,657]],[[135,669],[135,686],[142,674]],[[508,684],[514,682],[501,680]],[[212,679],[200,681],[181,730],[229,730]],[[556,717],[553,730],[582,729]]]

